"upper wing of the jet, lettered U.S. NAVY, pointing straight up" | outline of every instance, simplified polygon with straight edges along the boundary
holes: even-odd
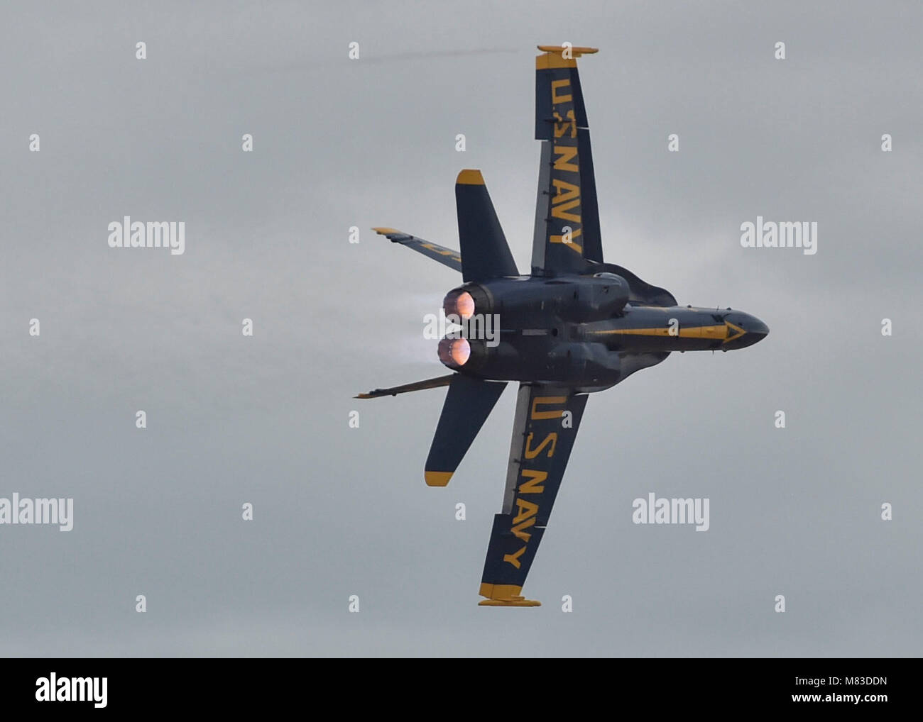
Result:
[[[542,141],[535,203],[532,272],[582,273],[603,262],[590,129],[577,58],[595,48],[539,45],[535,59],[535,138]]]

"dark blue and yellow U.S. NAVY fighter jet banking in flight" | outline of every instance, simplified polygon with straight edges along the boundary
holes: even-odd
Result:
[[[455,182],[461,253],[395,229],[374,229],[462,274],[462,285],[443,302],[453,330],[438,342],[439,360],[452,373],[358,397],[449,386],[426,458],[426,484],[449,483],[504,387],[519,384],[506,491],[481,578],[482,606],[539,606],[521,590],[589,394],[664,361],[671,351],[743,349],[769,333],[760,319],[740,311],[679,306],[669,291],[603,261],[577,73],[577,59],[597,50],[538,49],[535,138],[542,151],[531,273],[522,275],[513,261],[480,171],[464,170]]]

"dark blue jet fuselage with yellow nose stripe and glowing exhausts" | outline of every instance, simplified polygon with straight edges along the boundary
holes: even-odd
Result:
[[[631,282],[603,271],[466,283],[446,297],[445,313],[463,323],[440,342],[439,358],[474,378],[598,390],[670,351],[743,349],[769,333],[755,316],[679,306],[625,274]]]

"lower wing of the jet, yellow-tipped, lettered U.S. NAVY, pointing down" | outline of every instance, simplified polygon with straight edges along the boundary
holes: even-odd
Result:
[[[521,597],[522,585],[545,534],[586,399],[566,387],[520,385],[503,511],[494,516],[490,533],[481,605],[538,606]]]

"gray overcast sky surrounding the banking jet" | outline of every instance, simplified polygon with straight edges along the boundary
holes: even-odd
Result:
[[[0,497],[73,497],[75,526],[0,527],[0,654],[921,653],[923,6],[58,5],[0,22]],[[515,394],[426,488],[444,391],[352,397],[444,371],[423,315],[459,278],[368,227],[457,246],[480,168],[527,269],[561,41],[600,48],[606,259],[772,333],[591,397],[545,606],[483,609]],[[741,248],[758,214],[817,221],[818,254]],[[126,215],[186,221],[186,254],[110,249]],[[710,498],[710,530],[632,524],[649,491]]]

